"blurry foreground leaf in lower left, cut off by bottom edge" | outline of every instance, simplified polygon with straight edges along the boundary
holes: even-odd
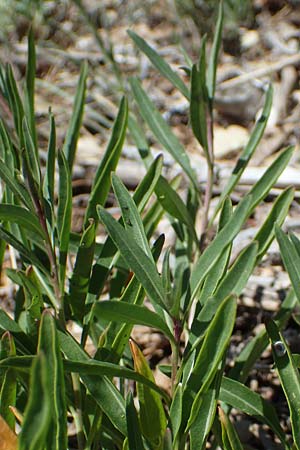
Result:
[[[48,372],[43,353],[32,363],[29,399],[19,434],[19,450],[41,450],[45,446],[51,423],[51,400]]]

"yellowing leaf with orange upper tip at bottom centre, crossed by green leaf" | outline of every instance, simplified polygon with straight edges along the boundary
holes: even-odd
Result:
[[[136,344],[130,341],[130,349],[136,372],[153,383],[154,377],[148,363]],[[162,448],[167,419],[160,396],[147,386],[138,383],[137,393],[140,405],[140,424],[143,435],[157,449]]]

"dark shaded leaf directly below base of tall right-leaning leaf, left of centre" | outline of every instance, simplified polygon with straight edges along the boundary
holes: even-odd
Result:
[[[90,225],[82,234],[70,280],[70,306],[73,314],[80,321],[82,321],[85,314],[85,300],[89,289],[90,273],[94,259],[95,237],[95,222],[91,219]]]

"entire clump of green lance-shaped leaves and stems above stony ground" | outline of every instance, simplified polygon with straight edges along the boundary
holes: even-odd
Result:
[[[189,101],[192,130],[208,164],[204,194],[184,148],[134,78],[131,91],[138,110],[189,180],[187,198],[183,200],[176,192],[178,177],[167,181],[163,176],[163,157],[153,159],[124,97],[95,175],[80,235],[71,230],[71,180],[87,66],[81,68],[61,150],[56,149],[55,119],[49,113],[48,157],[43,173],[34,114],[32,33],[23,96],[11,67],[1,68],[0,89],[11,110],[14,130],[0,122],[0,256],[3,261],[9,244],[17,265],[7,274],[18,286],[14,318],[0,309],[0,430],[5,430],[5,436],[0,437],[7,442],[10,439],[9,448],[71,448],[69,417],[75,424],[79,449],[198,450],[205,448],[208,438],[223,449],[241,449],[229,419],[234,407],[267,424],[288,449],[275,409],[245,385],[251,368],[271,341],[291,414],[293,445],[300,449],[297,358],[280,334],[300,300],[299,241],[280,229],[293,199],[292,188],[278,196],[253,241],[230,263],[233,239],[288,164],[293,148],[283,150],[233,208],[230,194],[262,137],[270,113],[269,87],[261,117],[209,221],[214,182],[213,102],[221,30],[220,8],[208,62],[203,40],[199,62],[186,68],[190,89],[143,39],[130,32],[140,50]],[[114,174],[127,129],[147,169],[133,196]],[[119,220],[105,209],[111,188],[120,207]],[[199,209],[200,234],[195,228]],[[207,231],[218,213],[215,237],[207,243]],[[173,249],[164,249],[160,274],[157,261],[164,236],[154,236],[164,215],[177,238]],[[99,221],[107,230],[103,244],[96,242]],[[275,235],[293,289],[267,329],[244,347],[225,376],[237,298]],[[100,301],[107,287],[107,301]],[[144,305],[146,298],[152,311]],[[76,322],[81,330],[79,342],[68,331],[70,322]],[[130,340],[135,324],[160,330],[169,340],[171,364],[161,370],[170,377],[170,393],[156,385],[143,354]],[[96,349],[93,357],[85,351],[88,338]],[[14,434],[16,420],[21,427],[18,438]]]

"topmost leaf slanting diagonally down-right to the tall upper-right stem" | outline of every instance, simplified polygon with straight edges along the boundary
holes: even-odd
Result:
[[[182,79],[177,75],[176,72],[169,66],[169,64],[152,48],[147,42],[134,33],[131,30],[127,30],[127,33],[138,46],[138,48],[150,59],[154,67],[176,87],[184,97],[189,99],[189,90],[182,81]]]

